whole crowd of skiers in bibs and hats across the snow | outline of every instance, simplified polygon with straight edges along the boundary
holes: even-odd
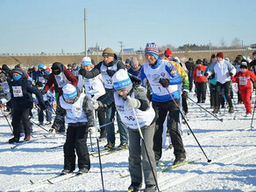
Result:
[[[128,190],[139,191],[143,181],[145,191],[159,190],[156,167],[167,133],[170,147],[174,148],[174,165],[186,161],[181,117],[189,113],[188,93],[195,90],[200,105],[205,103],[208,92],[210,108],[216,114],[227,105],[229,113],[234,113],[233,98],[238,94],[237,102],[245,105],[245,116],[252,115],[256,51],[252,57],[253,60],[238,55],[231,63],[223,52],[217,52],[210,62],[202,58],[195,64],[193,58],[188,58],[183,63],[169,48],[161,51],[156,44],[147,43],[143,65],[137,57],[123,63],[109,47],[103,50],[103,60],[98,64],[85,57],[81,65],[67,67],[60,62],[51,68],[39,64],[28,70],[24,65],[15,65],[13,69],[3,65],[1,111],[5,117],[7,112],[11,114],[13,128],[13,138],[8,142],[18,142],[22,134],[24,141],[31,140],[32,108],[36,108],[39,126],[50,125],[53,135],[67,134],[60,175],[75,171],[76,155],[78,175],[89,172],[87,138],[99,132],[98,141],[106,141],[105,150],[129,149],[132,183]],[[118,147],[114,120],[120,135]],[[96,122],[100,128],[96,128]]]

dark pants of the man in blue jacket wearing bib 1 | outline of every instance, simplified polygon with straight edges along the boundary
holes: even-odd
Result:
[[[180,99],[174,99],[175,102],[180,105]],[[154,102],[153,109],[156,113],[156,132],[153,136],[153,151],[155,160],[159,161],[162,155],[162,133],[163,123],[169,112],[168,129],[171,136],[171,141],[174,146],[174,155],[176,157],[186,157],[183,141],[181,138],[181,132],[179,130],[179,109],[175,106],[174,101],[167,102]]]

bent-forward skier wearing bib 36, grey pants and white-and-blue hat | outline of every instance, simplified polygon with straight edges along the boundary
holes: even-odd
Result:
[[[155,191],[156,163],[153,153],[155,113],[149,100],[146,98],[144,88],[140,86],[141,81],[134,76],[131,76],[131,79],[124,69],[118,70],[112,78],[114,90],[102,101],[90,100],[89,107],[101,110],[115,104],[121,120],[128,126],[128,161],[132,178],[132,184],[128,190],[139,191],[142,175],[144,175],[146,184],[144,191]],[[139,134],[136,118],[139,120],[139,127],[144,139]],[[141,142],[141,140],[144,140],[144,142]]]

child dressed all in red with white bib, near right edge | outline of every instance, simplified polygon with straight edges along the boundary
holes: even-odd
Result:
[[[252,114],[251,96],[252,87],[255,87],[256,76],[253,72],[248,70],[248,65],[246,62],[241,63],[240,70],[241,71],[237,72],[237,74],[234,76],[232,82],[238,83],[239,92],[241,93],[241,97],[246,108],[246,117]]]

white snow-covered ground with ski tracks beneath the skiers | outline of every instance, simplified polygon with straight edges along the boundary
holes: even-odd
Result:
[[[189,97],[196,101],[194,93],[189,93]],[[254,100],[254,96],[252,98]],[[160,191],[256,191],[256,129],[251,129],[251,117],[243,117],[244,105],[235,105],[233,114],[221,109],[217,116],[224,119],[221,122],[191,101],[188,104],[188,125],[211,162],[207,162],[193,135],[188,135],[188,127],[183,126],[187,160],[196,162],[158,173]],[[212,111],[208,98],[201,105]],[[256,127],[255,121],[252,126]],[[98,157],[91,156],[91,169],[87,175],[50,184],[43,180],[60,174],[63,151],[57,146],[64,143],[65,136],[50,137],[42,131],[33,134],[31,143],[11,148],[14,145],[4,143],[11,138],[11,133],[2,114],[0,123],[0,191],[103,191]],[[34,130],[41,129],[34,126]],[[96,138],[92,140],[96,151]],[[116,143],[119,145],[118,134]],[[100,143],[101,148],[104,144]],[[126,191],[131,179],[121,178],[119,173],[128,174],[128,151],[104,155],[101,160],[105,191]],[[160,168],[172,164],[173,149],[165,148],[161,161],[166,164]]]

